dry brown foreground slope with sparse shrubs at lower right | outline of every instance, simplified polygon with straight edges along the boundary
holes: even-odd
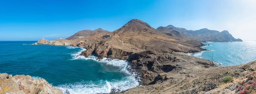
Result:
[[[177,66],[176,66],[177,67]],[[194,68],[197,67],[197,68]],[[255,94],[256,61],[227,67],[183,67],[161,73],[151,85],[131,88],[122,94]],[[231,77],[226,80],[226,77]]]

